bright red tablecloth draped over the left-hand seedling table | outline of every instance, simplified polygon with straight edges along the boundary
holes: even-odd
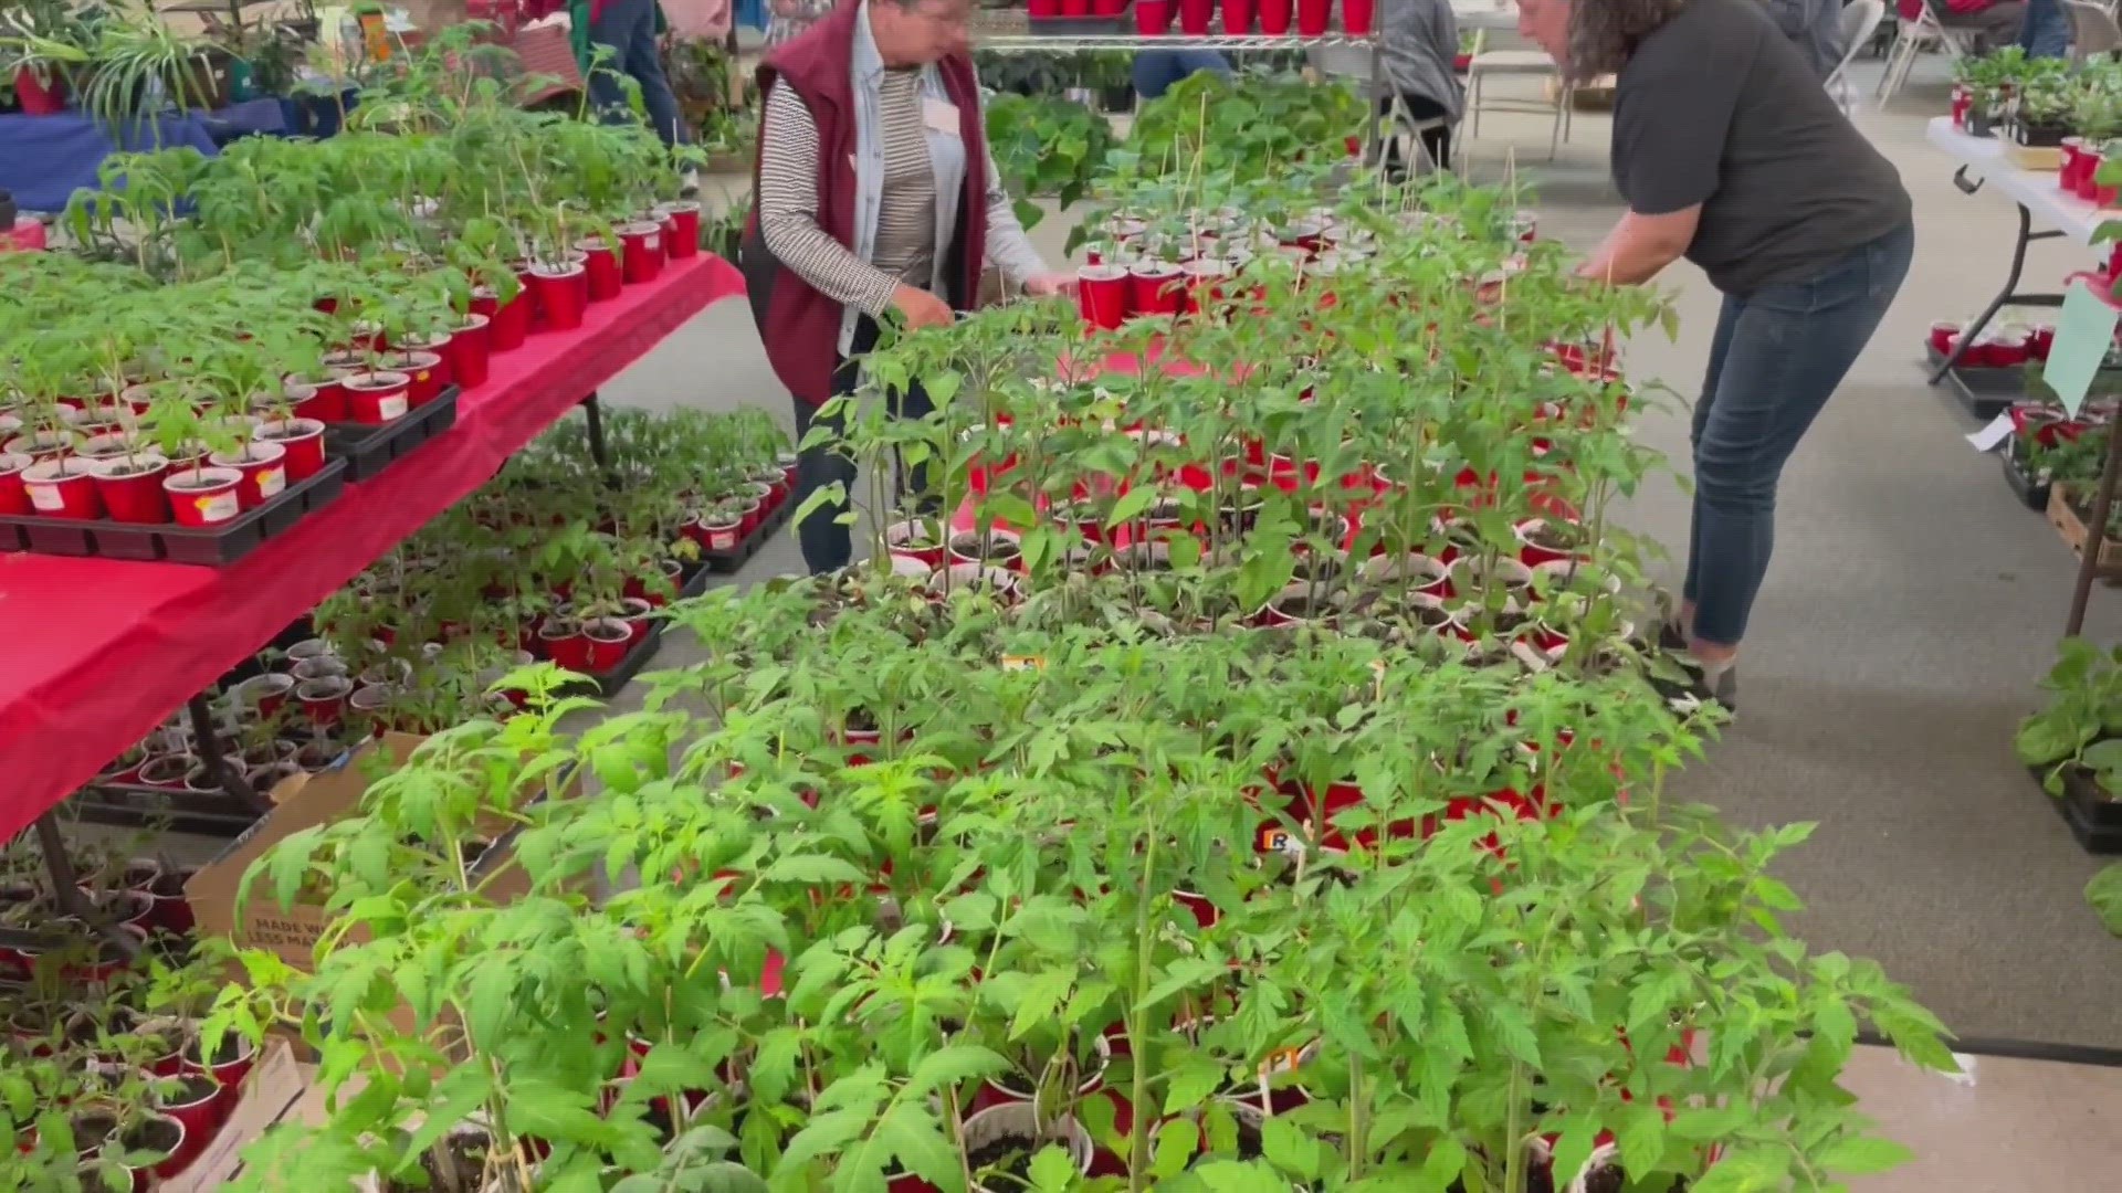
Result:
[[[0,841],[743,289],[728,261],[700,255],[592,304],[581,331],[533,333],[458,399],[456,427],[233,567],[0,554]]]

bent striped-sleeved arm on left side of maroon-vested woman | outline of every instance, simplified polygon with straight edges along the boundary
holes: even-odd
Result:
[[[879,316],[900,280],[855,257],[817,223],[817,121],[792,87],[766,91],[760,119],[760,236],[777,261],[845,306]]]

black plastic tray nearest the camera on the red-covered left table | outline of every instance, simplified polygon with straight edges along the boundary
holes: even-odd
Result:
[[[312,509],[329,505],[342,488],[346,488],[346,463],[325,461],[316,476],[282,488],[265,505],[219,526],[134,526],[104,518],[4,516],[0,550],[227,567],[286,533]]]

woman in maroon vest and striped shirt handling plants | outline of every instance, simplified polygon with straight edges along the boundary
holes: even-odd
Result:
[[[796,395],[796,435],[817,408],[853,393],[876,321],[949,325],[995,263],[1029,295],[1055,295],[980,132],[980,87],[966,53],[970,0],[851,0],[760,66],[758,210],[741,250],[766,359]],[[919,386],[893,395],[929,414]],[[921,476],[902,478],[921,488]],[[830,484],[853,492],[855,463],[802,454],[796,501]],[[813,573],[853,556],[838,509],[798,524]]]

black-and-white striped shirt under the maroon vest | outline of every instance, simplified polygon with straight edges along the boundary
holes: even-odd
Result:
[[[936,284],[936,174],[921,115],[921,72],[887,70],[879,113],[885,185],[872,261],[855,257],[817,223],[817,121],[794,87],[775,83],[760,119],[760,236],[766,250],[817,293],[879,316],[900,282]],[[1038,248],[987,159],[987,255],[1012,282],[1044,272]]]

